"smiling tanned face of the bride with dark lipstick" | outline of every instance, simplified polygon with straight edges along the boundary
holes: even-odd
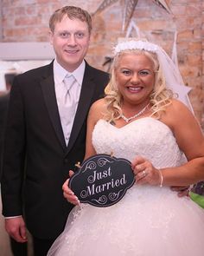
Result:
[[[149,102],[154,89],[154,63],[148,56],[136,53],[125,53],[119,56],[115,69],[118,90],[124,102],[138,104]]]

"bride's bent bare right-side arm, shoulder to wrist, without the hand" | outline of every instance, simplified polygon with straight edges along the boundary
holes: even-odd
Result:
[[[169,127],[188,162],[163,169],[166,185],[185,186],[204,181],[204,136],[199,122],[182,102],[174,101],[167,111]]]

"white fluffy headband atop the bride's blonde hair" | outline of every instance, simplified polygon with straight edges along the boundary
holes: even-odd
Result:
[[[114,56],[119,52],[124,51],[125,49],[144,49],[152,52],[156,52],[158,46],[154,43],[150,43],[147,41],[126,41],[118,43],[116,47],[113,48]]]

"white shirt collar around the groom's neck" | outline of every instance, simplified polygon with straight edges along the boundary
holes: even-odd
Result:
[[[85,61],[81,62],[80,66],[75,69],[72,73],[68,72],[66,69],[62,68],[61,65],[57,62],[56,59],[54,59],[54,82],[62,82],[65,78],[65,76],[73,75],[76,79],[76,81],[82,85],[83,77],[85,73]]]

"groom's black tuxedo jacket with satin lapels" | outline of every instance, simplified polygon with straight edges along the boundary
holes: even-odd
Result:
[[[54,92],[53,62],[15,78],[3,156],[3,215],[24,213],[29,232],[35,237],[54,239],[64,228],[73,206],[63,198],[61,186],[74,164],[83,161],[88,110],[104,95],[108,80],[105,72],[86,63],[66,146]]]

